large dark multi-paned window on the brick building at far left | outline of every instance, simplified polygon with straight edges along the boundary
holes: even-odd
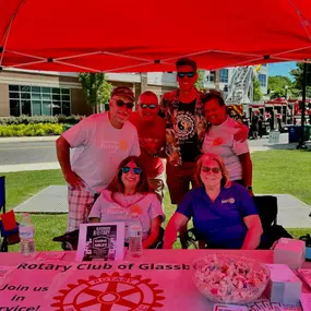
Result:
[[[70,89],[9,85],[10,116],[70,115]]]

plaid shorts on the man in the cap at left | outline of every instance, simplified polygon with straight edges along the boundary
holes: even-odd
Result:
[[[91,192],[68,187],[69,213],[67,232],[79,229],[80,224],[86,224],[93,203],[94,195]]]

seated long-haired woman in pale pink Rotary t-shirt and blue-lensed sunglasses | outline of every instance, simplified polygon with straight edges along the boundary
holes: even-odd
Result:
[[[162,203],[149,192],[146,175],[135,156],[121,162],[117,176],[100,193],[88,215],[91,223],[124,222],[125,242],[128,227],[140,222],[145,249],[158,241],[164,218]]]

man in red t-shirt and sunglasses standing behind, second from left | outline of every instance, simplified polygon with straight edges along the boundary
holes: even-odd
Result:
[[[140,146],[140,160],[145,168],[148,182],[158,195],[160,202],[164,198],[165,168],[160,153],[165,146],[165,121],[158,116],[159,105],[157,96],[146,91],[137,101],[137,110],[130,116],[130,121],[135,125]]]

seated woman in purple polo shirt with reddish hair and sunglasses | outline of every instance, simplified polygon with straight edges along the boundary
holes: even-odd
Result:
[[[170,218],[164,248],[170,249],[177,232],[192,217],[200,239],[213,249],[254,250],[263,234],[252,198],[241,184],[230,182],[223,159],[204,154],[196,165],[201,187],[190,190]]]

